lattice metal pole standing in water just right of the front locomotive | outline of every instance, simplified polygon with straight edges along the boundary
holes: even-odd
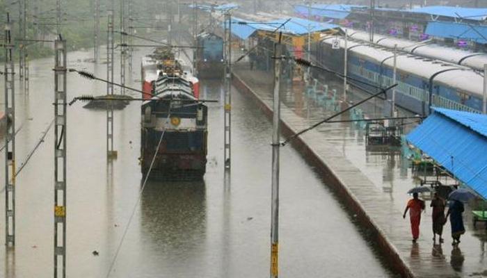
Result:
[[[225,46],[227,53],[225,55],[225,151],[224,160],[225,168],[230,169],[231,156],[231,126],[232,126],[232,17],[230,12],[225,13]]]

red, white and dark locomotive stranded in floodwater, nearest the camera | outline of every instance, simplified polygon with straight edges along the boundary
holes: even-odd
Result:
[[[207,163],[207,106],[180,71],[159,71],[142,105],[141,166],[154,179],[202,179]],[[151,168],[152,165],[152,168]]]

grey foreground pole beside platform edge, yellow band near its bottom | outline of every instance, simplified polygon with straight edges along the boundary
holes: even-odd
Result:
[[[279,148],[280,148],[280,42],[274,44],[274,101],[272,118],[271,278],[278,277],[279,252]]]

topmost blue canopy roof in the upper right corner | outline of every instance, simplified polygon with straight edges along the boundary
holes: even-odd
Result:
[[[440,15],[444,17],[456,17],[472,20],[484,20],[487,18],[487,8],[462,8],[450,6],[426,6],[413,8],[411,13],[426,13],[429,15]]]

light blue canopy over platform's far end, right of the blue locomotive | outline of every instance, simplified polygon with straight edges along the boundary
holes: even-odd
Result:
[[[335,24],[314,22],[298,17],[291,17],[289,21],[287,20],[288,19],[274,19],[267,22],[252,22],[234,17],[232,20],[232,33],[245,40],[255,31],[275,31],[280,26],[279,31],[291,35],[305,35],[339,27]]]

